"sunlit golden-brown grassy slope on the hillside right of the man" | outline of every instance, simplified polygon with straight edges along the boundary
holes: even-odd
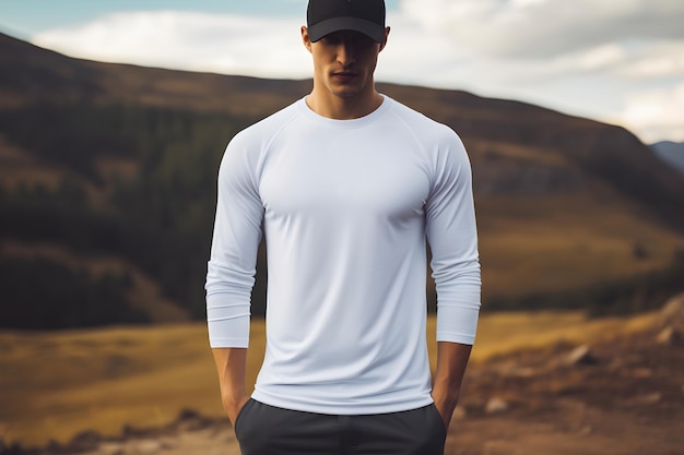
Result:
[[[561,292],[667,267],[684,237],[592,195],[477,201],[485,297]],[[640,251],[641,254],[636,252]]]

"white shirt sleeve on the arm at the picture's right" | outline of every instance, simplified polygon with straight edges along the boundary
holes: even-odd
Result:
[[[437,152],[426,204],[426,235],[437,290],[437,340],[472,345],[481,307],[481,271],[465,148],[453,131]]]

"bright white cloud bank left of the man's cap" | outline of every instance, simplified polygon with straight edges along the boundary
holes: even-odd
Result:
[[[94,60],[261,76],[307,76],[293,19],[176,11],[122,12],[33,43]]]

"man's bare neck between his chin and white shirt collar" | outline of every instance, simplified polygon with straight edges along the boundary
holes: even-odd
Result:
[[[334,120],[353,120],[365,117],[382,104],[382,95],[375,89],[354,97],[341,97],[328,91],[314,91],[306,97],[307,106],[316,113]]]

